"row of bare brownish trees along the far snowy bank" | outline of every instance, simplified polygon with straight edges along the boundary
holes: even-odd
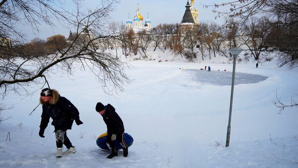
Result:
[[[243,24],[233,19],[226,20],[223,25],[215,22],[202,22],[199,25],[158,24],[149,31],[144,29],[138,32],[127,30],[124,24],[114,22],[111,27],[120,32],[119,38],[107,43],[106,48],[120,47],[125,56],[128,53],[137,55],[139,52],[144,58],[148,57],[149,47],[153,47],[153,51],[157,48],[162,51],[170,49],[190,60],[198,56],[204,60],[206,57],[216,57],[217,52],[228,57],[228,49],[243,47],[248,48],[255,60],[259,60],[262,51],[275,47],[287,53],[281,61],[291,62],[291,66],[295,66],[298,39],[293,29],[297,27],[294,27],[293,18],[287,19],[276,21],[269,16],[262,16],[250,17]],[[291,30],[287,24],[282,23],[288,21],[293,23]]]

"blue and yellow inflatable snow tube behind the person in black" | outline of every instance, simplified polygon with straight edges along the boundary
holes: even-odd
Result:
[[[99,148],[101,148],[101,149],[110,150],[109,147],[108,147],[107,144],[106,144],[106,142],[107,142],[107,135],[108,135],[107,132],[101,134],[101,135],[97,138],[97,140],[96,140],[96,144],[97,144],[97,146],[98,146]],[[133,137],[132,137],[130,134],[128,134],[128,133],[123,133],[123,139],[124,139],[124,141],[125,141],[125,143],[126,143],[126,145],[127,145],[128,147],[132,146],[132,144],[133,144],[133,142],[134,142],[134,139],[133,139]],[[114,146],[115,146],[115,148],[116,148],[117,150],[122,149],[122,146],[120,145],[120,143],[118,142],[118,140],[113,141],[113,143],[114,143]]]

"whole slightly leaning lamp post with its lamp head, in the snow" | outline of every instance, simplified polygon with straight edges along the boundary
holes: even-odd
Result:
[[[234,94],[236,57],[242,52],[242,50],[239,48],[232,48],[229,50],[229,52],[233,56],[233,75],[232,75],[231,99],[230,99],[230,109],[229,109],[229,115],[228,115],[225,147],[229,146],[229,137],[231,133],[231,115],[232,115],[233,94]]]

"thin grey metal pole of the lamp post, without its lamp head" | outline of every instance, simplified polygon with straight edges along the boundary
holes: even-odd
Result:
[[[229,146],[229,136],[230,136],[230,133],[231,133],[231,115],[232,115],[233,94],[234,94],[235,68],[236,68],[236,56],[233,56],[233,57],[234,57],[234,60],[233,60],[231,99],[230,99],[230,109],[229,109],[229,115],[228,115],[228,125],[227,125],[227,132],[226,132],[225,147]]]

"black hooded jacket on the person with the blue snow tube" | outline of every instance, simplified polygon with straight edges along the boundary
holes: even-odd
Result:
[[[123,122],[117,112],[115,112],[115,108],[112,105],[108,104],[105,106],[105,113],[102,117],[107,125],[108,135],[119,135],[124,132]]]

